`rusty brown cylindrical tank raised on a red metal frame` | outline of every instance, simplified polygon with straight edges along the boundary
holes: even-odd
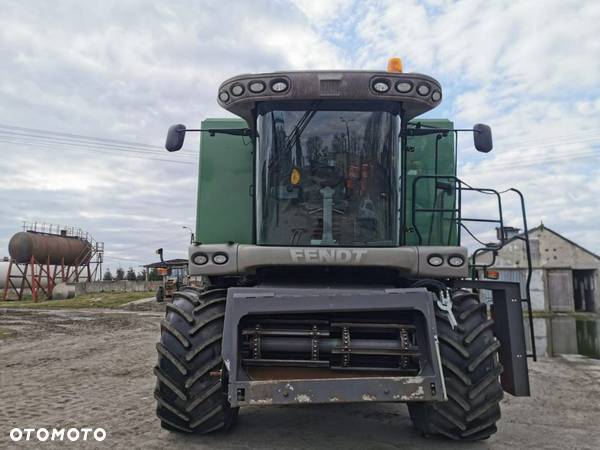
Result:
[[[10,239],[8,252],[18,263],[29,262],[35,256],[39,263],[73,266],[90,261],[92,246],[77,237],[21,231]]]

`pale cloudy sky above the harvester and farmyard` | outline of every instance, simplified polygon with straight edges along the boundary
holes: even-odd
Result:
[[[226,116],[229,76],[390,56],[441,81],[428,116],[492,126],[459,176],[518,187],[530,225],[600,253],[599,23],[594,0],[0,0],[0,256],[38,221],[90,232],[113,268],[185,257],[198,140],[167,154],[170,124]]]

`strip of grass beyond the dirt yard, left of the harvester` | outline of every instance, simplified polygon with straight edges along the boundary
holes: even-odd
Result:
[[[83,308],[120,308],[125,303],[152,297],[152,292],[99,292],[84,294],[67,300],[19,300],[0,302],[0,308],[35,309],[83,309]]]

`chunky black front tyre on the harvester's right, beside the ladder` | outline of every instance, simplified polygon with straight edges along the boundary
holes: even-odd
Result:
[[[440,355],[448,401],[410,403],[415,427],[423,434],[440,434],[455,440],[477,441],[494,434],[503,396],[498,379],[500,343],[492,332],[494,322],[477,295],[452,295],[458,325],[452,329],[444,311],[436,307]]]

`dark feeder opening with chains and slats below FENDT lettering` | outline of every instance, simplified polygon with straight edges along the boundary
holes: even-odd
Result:
[[[240,324],[242,365],[419,373],[421,353],[412,315],[370,315],[246,317]]]

